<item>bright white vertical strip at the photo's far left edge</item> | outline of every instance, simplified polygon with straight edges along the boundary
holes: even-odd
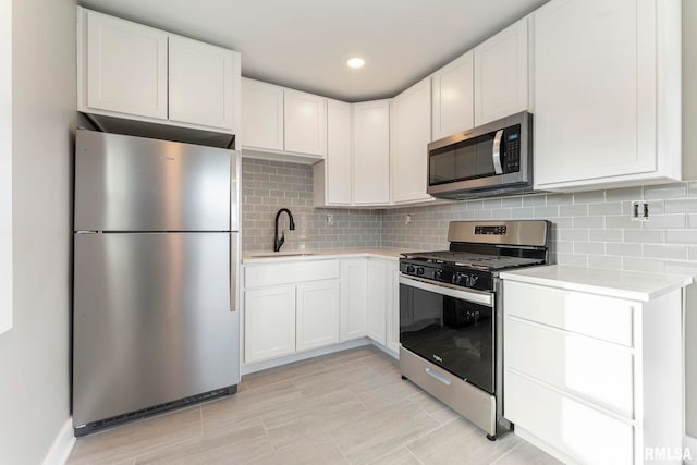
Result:
[[[12,327],[12,0],[0,0],[0,334]]]

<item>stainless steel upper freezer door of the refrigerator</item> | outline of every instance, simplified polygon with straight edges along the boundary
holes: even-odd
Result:
[[[77,130],[75,231],[230,231],[232,150]]]

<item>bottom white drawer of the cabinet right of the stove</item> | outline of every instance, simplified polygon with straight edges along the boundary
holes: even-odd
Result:
[[[632,464],[634,428],[506,371],[503,416],[584,464]]]

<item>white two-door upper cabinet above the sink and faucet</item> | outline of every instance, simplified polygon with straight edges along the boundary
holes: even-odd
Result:
[[[243,148],[318,160],[327,155],[325,97],[243,78],[242,120]]]

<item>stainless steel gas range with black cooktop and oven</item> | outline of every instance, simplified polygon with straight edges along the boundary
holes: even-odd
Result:
[[[503,418],[503,310],[499,272],[545,265],[550,222],[453,221],[449,250],[402,254],[402,377],[496,440]]]

